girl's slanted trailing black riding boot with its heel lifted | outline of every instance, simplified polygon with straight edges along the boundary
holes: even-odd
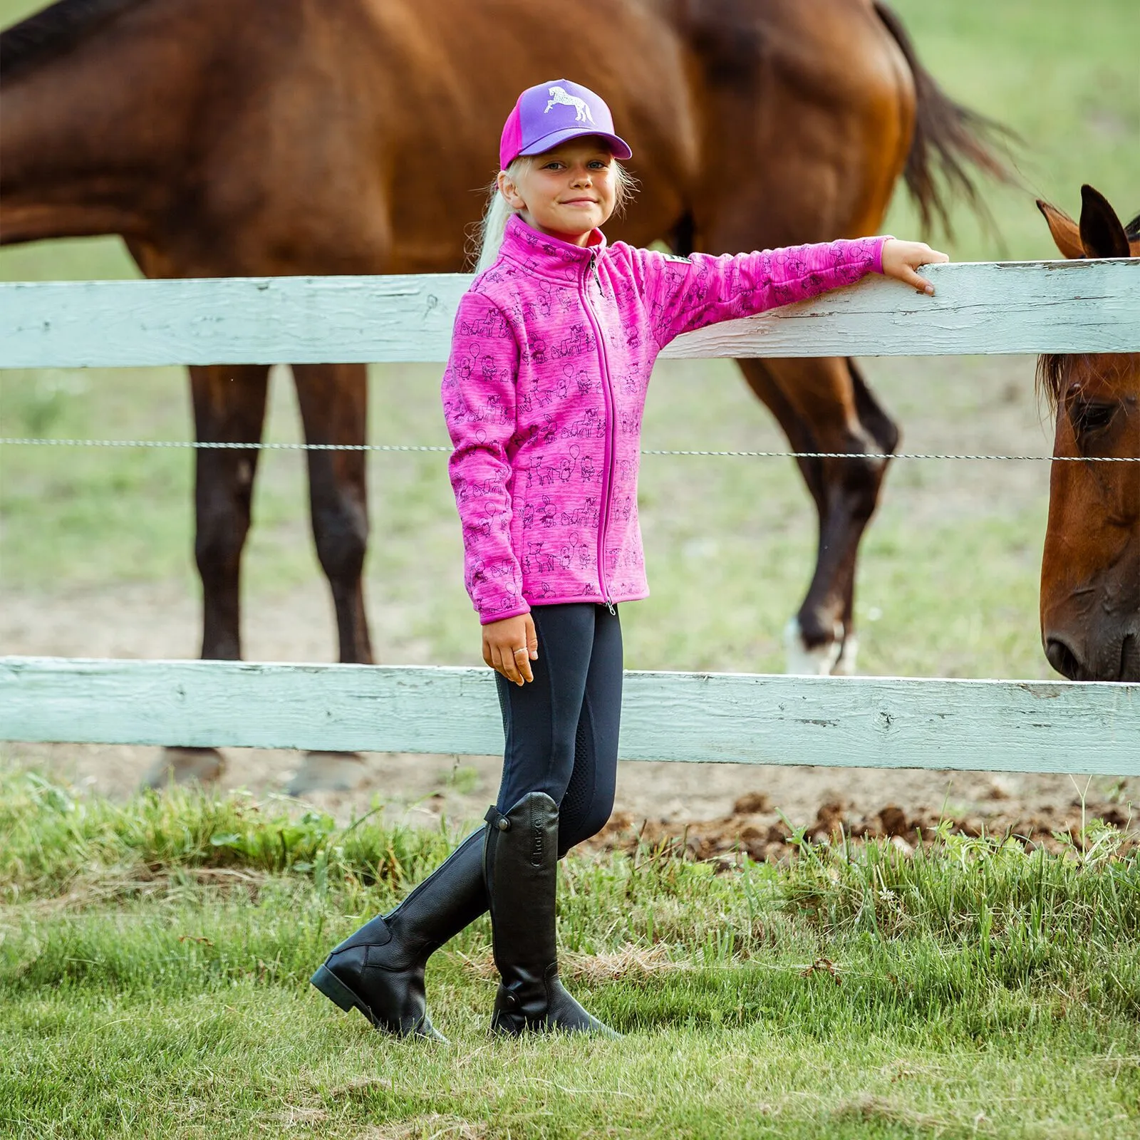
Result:
[[[424,964],[487,910],[483,832],[469,836],[388,914],[345,938],[310,979],[343,1010],[398,1036],[447,1039],[427,1016]]]

